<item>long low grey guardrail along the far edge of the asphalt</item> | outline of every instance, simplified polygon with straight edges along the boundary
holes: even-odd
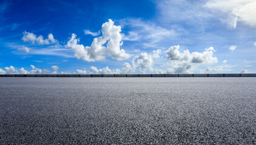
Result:
[[[0,77],[256,77],[256,74],[0,74]]]

